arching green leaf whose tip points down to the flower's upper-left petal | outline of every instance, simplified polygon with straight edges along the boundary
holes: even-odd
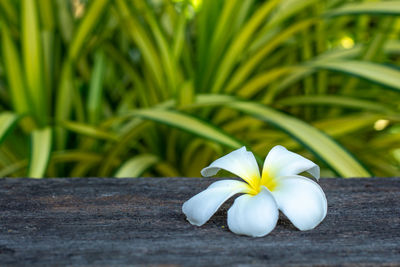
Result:
[[[157,121],[203,138],[215,141],[231,148],[238,148],[242,143],[206,121],[188,114],[170,110],[148,109],[132,113],[144,119]]]

